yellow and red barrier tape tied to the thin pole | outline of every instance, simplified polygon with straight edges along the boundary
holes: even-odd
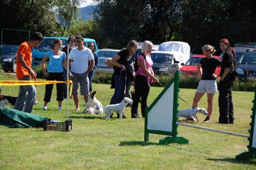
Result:
[[[16,81],[12,81],[12,80],[0,80],[0,86],[1,85],[46,85],[46,84],[56,84],[56,83],[66,83],[67,85],[70,84],[70,91],[69,91],[69,97],[71,96],[71,92],[72,92],[72,81],[67,79],[67,81],[37,81],[35,79],[35,81],[30,81],[30,80],[24,80],[24,81],[20,81],[20,80],[16,80]]]

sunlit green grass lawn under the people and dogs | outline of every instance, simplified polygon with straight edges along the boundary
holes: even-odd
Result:
[[[16,76],[0,73],[1,80],[17,80]],[[44,80],[44,79],[42,79]],[[114,90],[110,85],[93,84],[96,98],[103,105],[109,104]],[[48,110],[43,111],[45,85],[37,85],[36,99],[39,105],[33,114],[46,116],[61,122],[67,117],[67,100],[63,101],[62,111],[58,111],[56,85]],[[163,90],[151,87],[148,96],[150,105]],[[18,86],[5,86],[3,95],[17,96]],[[180,89],[179,96],[192,104],[195,89]],[[235,124],[215,124],[218,122],[218,96],[214,97],[214,109],[210,123],[203,123],[205,116],[198,113],[199,122],[189,122],[196,126],[249,135],[251,108],[254,92],[233,92]],[[179,100],[179,109],[190,106]],[[85,107],[80,96],[80,109]],[[207,108],[206,95],[199,107]],[[139,105],[140,108],[140,105]],[[236,161],[239,153],[248,151],[249,141],[244,137],[204,131],[179,126],[178,136],[189,140],[189,144],[159,145],[165,135],[149,134],[149,142],[144,142],[144,118],[139,111],[139,119],[132,119],[130,109],[125,109],[128,118],[104,120],[105,114],[88,115],[74,112],[74,101],[69,99],[69,118],[72,130],[69,132],[44,131],[43,128],[9,128],[0,126],[0,169],[1,170],[63,170],[63,169],[185,169],[185,170],[255,170],[256,159]],[[140,110],[140,109],[139,109]],[[179,118],[180,122],[183,118]]]

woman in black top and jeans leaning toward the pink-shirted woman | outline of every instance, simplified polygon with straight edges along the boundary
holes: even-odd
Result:
[[[137,48],[137,42],[132,40],[128,43],[127,48],[122,49],[111,59],[110,62],[113,64],[114,68],[111,88],[115,88],[115,92],[109,104],[117,104],[122,102],[125,96],[126,88],[129,85],[129,81],[134,81],[134,76],[132,74],[130,65],[133,62],[133,55],[137,51]],[[117,117],[118,116],[119,114]]]

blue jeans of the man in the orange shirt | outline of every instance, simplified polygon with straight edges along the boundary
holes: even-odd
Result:
[[[20,81],[22,80],[31,80],[29,76],[25,76],[22,79],[19,79]],[[16,100],[14,109],[22,111],[24,107],[24,112],[26,113],[31,113],[33,106],[34,106],[34,101],[35,101],[35,95],[37,94],[35,85],[20,85],[19,86],[19,95]]]

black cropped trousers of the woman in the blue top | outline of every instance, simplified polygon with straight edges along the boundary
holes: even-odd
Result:
[[[49,72],[49,76],[46,77],[46,80],[49,81],[64,81],[63,77],[63,72],[61,73],[52,73]],[[51,101],[51,96],[52,96],[52,88],[54,84],[46,84],[45,85],[45,102],[50,102]],[[63,101],[63,83],[56,83],[56,89],[57,89],[57,101]]]

